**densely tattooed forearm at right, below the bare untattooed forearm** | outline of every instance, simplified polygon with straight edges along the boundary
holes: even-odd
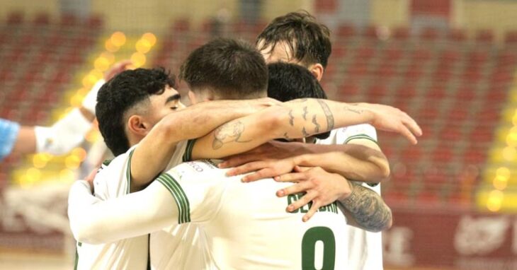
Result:
[[[360,183],[349,182],[351,194],[339,199],[345,209],[349,225],[355,225],[371,232],[387,230],[392,225],[392,211],[379,194]]]

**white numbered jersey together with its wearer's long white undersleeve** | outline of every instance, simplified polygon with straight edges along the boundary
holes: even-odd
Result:
[[[276,190],[290,183],[271,179],[242,183],[239,176],[225,177],[225,172],[207,160],[183,163],[141,192],[92,202],[89,191],[83,189],[69,207],[81,211],[76,222],[102,230],[98,234],[110,235],[110,240],[121,237],[122,230],[134,237],[164,223],[198,223],[210,249],[203,259],[212,260],[201,269],[302,269],[302,259],[313,259],[316,266],[334,259],[334,265],[326,267],[346,269],[348,227],[336,203],[303,223],[307,206],[287,213],[285,207],[296,197],[275,196]],[[176,252],[188,250],[180,247]],[[179,267],[174,269],[193,269]]]

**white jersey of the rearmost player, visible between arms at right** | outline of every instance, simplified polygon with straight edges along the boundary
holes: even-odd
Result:
[[[319,144],[345,144],[354,139],[369,139],[377,142],[377,132],[370,124],[334,129],[329,138],[318,140]],[[380,184],[364,187],[380,194]],[[353,226],[348,227],[348,268],[347,269],[382,269],[382,233],[372,233]]]

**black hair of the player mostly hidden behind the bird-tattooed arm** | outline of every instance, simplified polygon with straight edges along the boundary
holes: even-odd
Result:
[[[269,81],[268,97],[282,102],[297,98],[322,98],[326,94],[316,77],[305,67],[297,64],[268,64]],[[315,135],[318,139],[326,139],[330,132]]]

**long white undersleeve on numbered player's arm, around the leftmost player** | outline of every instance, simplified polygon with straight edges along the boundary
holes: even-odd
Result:
[[[152,233],[177,221],[175,202],[158,182],[145,191],[107,201],[77,181],[69,193],[68,216],[75,239],[100,244]],[[152,209],[152,210],[149,210]]]

